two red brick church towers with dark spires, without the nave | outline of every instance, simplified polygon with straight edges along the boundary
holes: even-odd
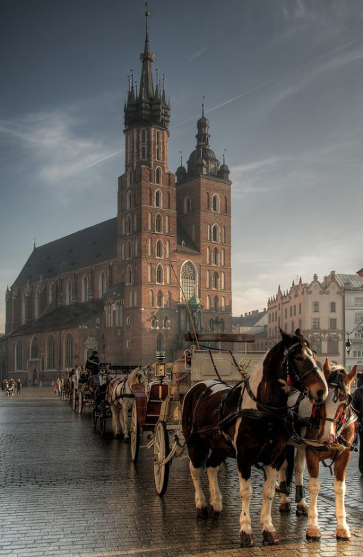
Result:
[[[168,168],[170,104],[158,74],[154,86],[145,15],[140,85],[137,91],[131,76],[118,182],[122,343],[143,362],[157,350],[174,359],[192,319],[199,331],[232,330],[229,169],[209,147],[203,107],[197,146],[175,184]]]

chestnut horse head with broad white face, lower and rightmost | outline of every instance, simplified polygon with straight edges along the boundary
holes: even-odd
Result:
[[[322,443],[332,443],[341,430],[348,425],[350,386],[357,376],[357,366],[348,373],[344,366],[335,366],[325,359],[323,366],[328,383],[328,397],[322,405],[313,407],[312,417],[318,429],[317,439]]]

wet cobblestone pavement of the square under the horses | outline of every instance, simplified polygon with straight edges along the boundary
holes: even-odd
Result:
[[[363,556],[363,480],[357,454],[348,467],[346,509],[350,542],[335,538],[334,489],[321,472],[320,542],[305,539],[307,519],[280,515],[280,537],[262,545],[259,532],[261,471],[254,470],[252,521],[255,547],[239,548],[239,489],[236,466],[220,471],[224,509],[218,520],[195,518],[186,459],[174,459],[168,491],[154,489],[152,453],[140,448],[138,465],[130,446],[92,427],[90,407],[72,411],[49,388],[0,393],[0,557],[332,557]],[[143,443],[143,441],[142,441]]]

